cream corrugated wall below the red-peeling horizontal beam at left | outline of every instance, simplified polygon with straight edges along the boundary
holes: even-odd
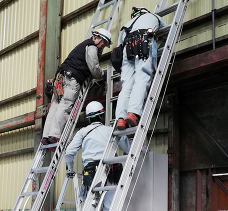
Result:
[[[31,166],[33,151],[2,157],[3,153],[34,147],[34,126],[0,134],[0,209],[11,210]],[[28,191],[31,191],[29,187]],[[27,209],[30,205],[26,206]]]

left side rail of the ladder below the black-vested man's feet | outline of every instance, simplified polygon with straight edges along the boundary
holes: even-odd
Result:
[[[18,198],[17,198],[17,200],[15,202],[15,205],[13,207],[13,211],[16,211],[16,210],[19,210],[20,209],[20,206],[21,206],[21,204],[23,202],[23,199],[24,199],[24,197],[22,197],[21,194],[22,193],[25,193],[28,190],[28,187],[30,185],[30,182],[34,178],[34,174],[31,172],[31,170],[33,168],[41,167],[43,165],[44,160],[41,160],[40,161],[39,158],[45,156],[46,150],[44,150],[44,151],[43,150],[40,150],[40,147],[41,147],[41,143],[40,143],[40,145],[39,145],[39,147],[38,147],[38,149],[36,151],[35,159],[33,159],[32,165],[31,165],[31,167],[30,167],[30,169],[28,171],[28,174],[26,176],[26,179],[24,181],[24,184],[23,184],[23,186],[22,186],[22,188],[21,188],[21,190],[19,192]]]

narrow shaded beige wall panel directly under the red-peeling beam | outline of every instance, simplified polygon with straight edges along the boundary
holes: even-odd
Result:
[[[34,125],[0,133],[0,154],[34,147]]]

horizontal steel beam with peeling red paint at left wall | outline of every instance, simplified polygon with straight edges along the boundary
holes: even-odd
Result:
[[[23,114],[0,122],[0,133],[35,124],[34,112]]]

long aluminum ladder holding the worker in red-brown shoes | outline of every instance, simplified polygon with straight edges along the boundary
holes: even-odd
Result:
[[[157,5],[154,13],[159,16],[165,16],[171,12],[175,12],[172,24],[162,28],[157,36],[161,37],[167,35],[165,46],[159,49],[161,53],[160,62],[154,76],[148,97],[144,106],[144,110],[137,127],[128,128],[123,131],[115,131],[116,121],[110,136],[109,142],[106,146],[103,157],[97,168],[91,188],[87,194],[87,199],[82,211],[94,211],[97,204],[100,204],[99,199],[102,192],[115,189],[115,195],[112,200],[109,211],[122,211],[124,201],[131,183],[139,155],[146,138],[146,134],[154,114],[154,110],[161,92],[162,85],[165,80],[167,69],[173,54],[175,44],[183,25],[184,16],[187,10],[189,0],[180,0],[173,5],[166,7],[167,0],[162,0],[160,6]],[[158,53],[159,53],[158,51]],[[112,67],[109,67],[109,69]],[[115,78],[115,77],[112,77]],[[110,82],[110,81],[109,81]],[[111,109],[110,109],[111,110]],[[110,115],[111,117],[111,115]],[[106,119],[107,120],[107,119]],[[115,157],[118,147],[118,142],[121,136],[135,134],[128,155]],[[107,179],[107,172],[110,169],[110,164],[125,162],[123,172],[117,186],[104,186]]]

